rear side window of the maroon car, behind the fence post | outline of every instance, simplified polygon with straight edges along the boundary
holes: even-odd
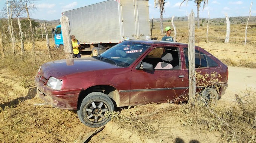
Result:
[[[187,48],[184,48],[184,55],[186,60],[186,67],[189,68],[189,60],[188,60],[188,53]],[[218,64],[209,56],[200,53],[200,51],[195,50],[195,67],[196,68],[203,68],[203,67],[216,67]]]

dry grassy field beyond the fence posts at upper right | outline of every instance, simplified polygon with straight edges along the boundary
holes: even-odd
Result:
[[[177,32],[177,42],[187,43],[188,42],[188,22],[180,21],[174,22]],[[162,35],[160,34],[160,23],[153,23],[152,37],[157,40],[162,39]],[[171,22],[163,22],[163,27],[171,26]],[[245,24],[231,24],[230,25],[230,43],[240,43],[243,44],[245,40]],[[172,28],[173,30],[173,28]],[[207,25],[204,24],[203,27],[199,29],[195,28],[195,42],[206,42],[206,31]],[[248,24],[247,28],[247,42],[250,44],[255,44],[256,41],[256,27],[254,23]],[[171,33],[174,36],[174,31]],[[208,31],[208,40],[209,42],[217,42],[224,43],[226,38],[226,24],[219,25],[213,22],[209,23],[209,31]]]

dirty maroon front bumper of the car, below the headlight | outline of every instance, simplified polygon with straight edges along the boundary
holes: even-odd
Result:
[[[76,110],[78,97],[82,89],[55,90],[40,80],[37,75],[35,77],[35,85],[37,86],[37,94],[45,102],[59,109]]]

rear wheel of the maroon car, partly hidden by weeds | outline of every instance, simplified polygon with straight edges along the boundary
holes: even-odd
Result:
[[[213,107],[219,100],[218,92],[214,88],[205,88],[201,92],[199,100],[203,105],[207,104],[209,107]]]

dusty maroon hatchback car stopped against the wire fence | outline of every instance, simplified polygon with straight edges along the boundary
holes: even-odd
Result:
[[[209,95],[214,97],[202,95],[220,99],[227,87],[227,66],[198,46],[195,64],[201,74],[221,75],[218,83],[203,87],[203,91],[216,93]],[[125,40],[96,57],[45,63],[35,76],[35,85],[39,96],[53,107],[77,109],[83,124],[100,127],[110,121],[105,113],[114,107],[165,103],[187,96],[188,66],[187,44]],[[219,84],[223,86],[215,88]]]

